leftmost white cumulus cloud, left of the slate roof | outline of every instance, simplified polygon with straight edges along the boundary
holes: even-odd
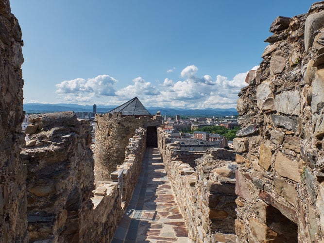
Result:
[[[90,96],[114,96],[117,80],[108,75],[99,75],[95,78],[76,78],[65,80],[55,87],[56,93],[60,94],[77,94],[82,95],[88,93]]]

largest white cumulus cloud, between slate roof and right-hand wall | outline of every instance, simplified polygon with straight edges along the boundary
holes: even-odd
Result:
[[[188,108],[235,108],[240,89],[247,84],[248,72],[239,73],[233,79],[217,75],[216,79],[205,74],[197,76],[198,68],[188,66],[181,71],[183,80],[171,82],[165,79],[155,102],[164,106]],[[152,102],[152,101],[151,101]]]

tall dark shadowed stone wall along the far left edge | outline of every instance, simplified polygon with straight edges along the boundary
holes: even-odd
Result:
[[[26,166],[19,161],[24,118],[23,41],[9,0],[0,1],[0,242],[28,242]]]

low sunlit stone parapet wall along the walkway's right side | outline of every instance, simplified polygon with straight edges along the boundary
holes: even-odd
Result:
[[[193,242],[235,241],[237,164],[233,151],[214,148],[199,156],[197,152],[182,155],[180,143],[171,143],[160,129],[158,147]]]

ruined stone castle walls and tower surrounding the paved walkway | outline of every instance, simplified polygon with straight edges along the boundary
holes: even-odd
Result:
[[[273,21],[239,93],[234,151],[181,151],[159,114],[119,107],[96,116],[95,160],[92,128],[73,112],[30,116],[24,144],[23,41],[9,0],[0,21],[0,242],[110,242],[147,146],[159,148],[192,241],[324,241],[324,1]]]

